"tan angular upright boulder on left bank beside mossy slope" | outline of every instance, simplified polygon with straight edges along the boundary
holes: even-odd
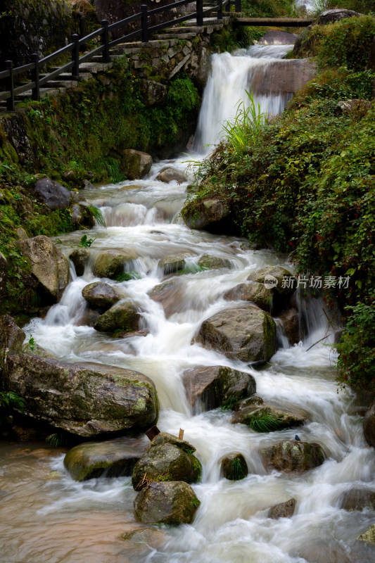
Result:
[[[18,246],[30,260],[39,293],[49,303],[57,303],[70,279],[68,258],[44,235],[18,241]]]

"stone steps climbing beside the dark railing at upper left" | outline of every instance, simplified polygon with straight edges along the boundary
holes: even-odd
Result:
[[[203,9],[215,6],[214,3],[203,3]],[[132,60],[132,65],[135,70],[138,70],[142,76],[141,68],[145,66],[145,61],[140,58],[141,51],[150,52],[150,50],[159,48],[165,50],[165,54],[161,57],[164,64],[173,61],[174,57],[179,60],[176,61],[174,68],[172,68],[168,78],[172,78],[191,58],[191,39],[196,37],[197,34],[210,35],[214,31],[219,31],[224,25],[227,25],[230,20],[229,15],[224,15],[222,20],[217,20],[217,13],[210,12],[207,17],[203,18],[203,26],[197,26],[196,20],[185,20],[172,27],[167,27],[160,33],[155,33],[151,35],[151,40],[147,43],[141,41],[127,42],[123,44],[118,44],[113,49],[110,49],[110,62],[103,63],[101,56],[94,56],[89,63],[82,63],[80,65],[80,77],[79,80],[72,80],[72,76],[69,73],[64,73],[58,78],[47,82],[43,87],[40,88],[41,99],[44,96],[58,96],[58,94],[65,94],[65,92],[70,88],[76,88],[80,82],[85,82],[91,80],[94,75],[98,72],[106,72],[110,70],[113,65],[113,60],[121,56],[127,56]],[[185,42],[184,46],[181,46],[182,42]],[[181,49],[177,46],[181,46]],[[151,62],[153,66],[158,66],[160,63],[160,57],[152,57],[149,61],[149,55],[147,61]],[[51,68],[49,72],[55,70],[57,67]],[[40,75],[43,77],[45,75]],[[20,103],[28,101],[32,98],[32,91],[25,91],[23,94],[18,94],[15,96],[15,102]],[[6,109],[6,102],[0,102],[0,110]]]

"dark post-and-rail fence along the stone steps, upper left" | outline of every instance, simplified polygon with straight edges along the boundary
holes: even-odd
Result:
[[[139,36],[141,36],[142,42],[148,42],[149,35],[151,33],[154,33],[158,30],[163,30],[166,27],[170,27],[171,25],[175,25],[176,23],[183,22],[185,20],[196,19],[196,25],[201,27],[203,25],[203,18],[212,11],[217,11],[218,20],[222,19],[223,10],[229,12],[231,6],[234,6],[236,12],[241,11],[241,0],[215,1],[217,2],[215,6],[210,6],[209,8],[203,9],[203,0],[196,0],[195,12],[182,15],[179,18],[169,20],[165,23],[152,25],[151,27],[149,26],[149,18],[152,15],[165,11],[172,11],[172,9],[178,8],[179,6],[184,6],[186,4],[192,4],[192,2],[191,0],[179,0],[177,2],[173,2],[172,4],[167,4],[167,6],[153,8],[152,10],[148,10],[146,4],[142,4],[141,11],[139,13],[135,13],[134,15],[130,15],[128,18],[112,23],[110,25],[108,25],[107,20],[102,20],[101,27],[99,27],[98,30],[95,30],[88,35],[84,35],[84,37],[80,37],[78,34],[73,34],[71,37],[72,40],[68,45],[44,58],[39,59],[38,54],[33,53],[30,57],[30,63],[15,68],[13,67],[13,61],[5,61],[5,70],[0,72],[0,82],[5,88],[3,91],[0,91],[0,101],[6,100],[6,108],[13,111],[15,108],[15,96],[23,94],[25,91],[31,90],[32,100],[39,101],[40,88],[44,86],[44,84],[58,78],[65,72],[70,72],[71,79],[77,80],[80,77],[80,65],[82,63],[90,61],[92,58],[94,58],[94,56],[97,56],[99,54],[101,54],[102,56],[102,62],[108,63],[110,61],[110,49],[120,43],[129,42],[131,39]],[[111,32],[121,29],[122,27],[125,27],[126,25],[129,25],[129,23],[132,23],[136,20],[140,20],[141,27],[139,27],[139,29],[124,34],[118,39],[110,41]],[[80,23],[80,30],[81,34],[83,35],[84,31],[82,30],[84,30],[84,22],[82,23],[82,21]],[[80,56],[80,51],[85,48],[86,44],[89,41],[96,39],[97,37],[101,38],[101,44],[95,49],[92,49],[91,51]],[[43,67],[45,67],[47,64],[50,65],[54,60],[56,60],[56,58],[59,58],[69,52],[71,53],[71,60],[68,63],[65,63],[52,70],[52,72],[41,76],[41,70]],[[31,82],[21,84],[20,86],[15,86],[15,77],[30,72]]]

